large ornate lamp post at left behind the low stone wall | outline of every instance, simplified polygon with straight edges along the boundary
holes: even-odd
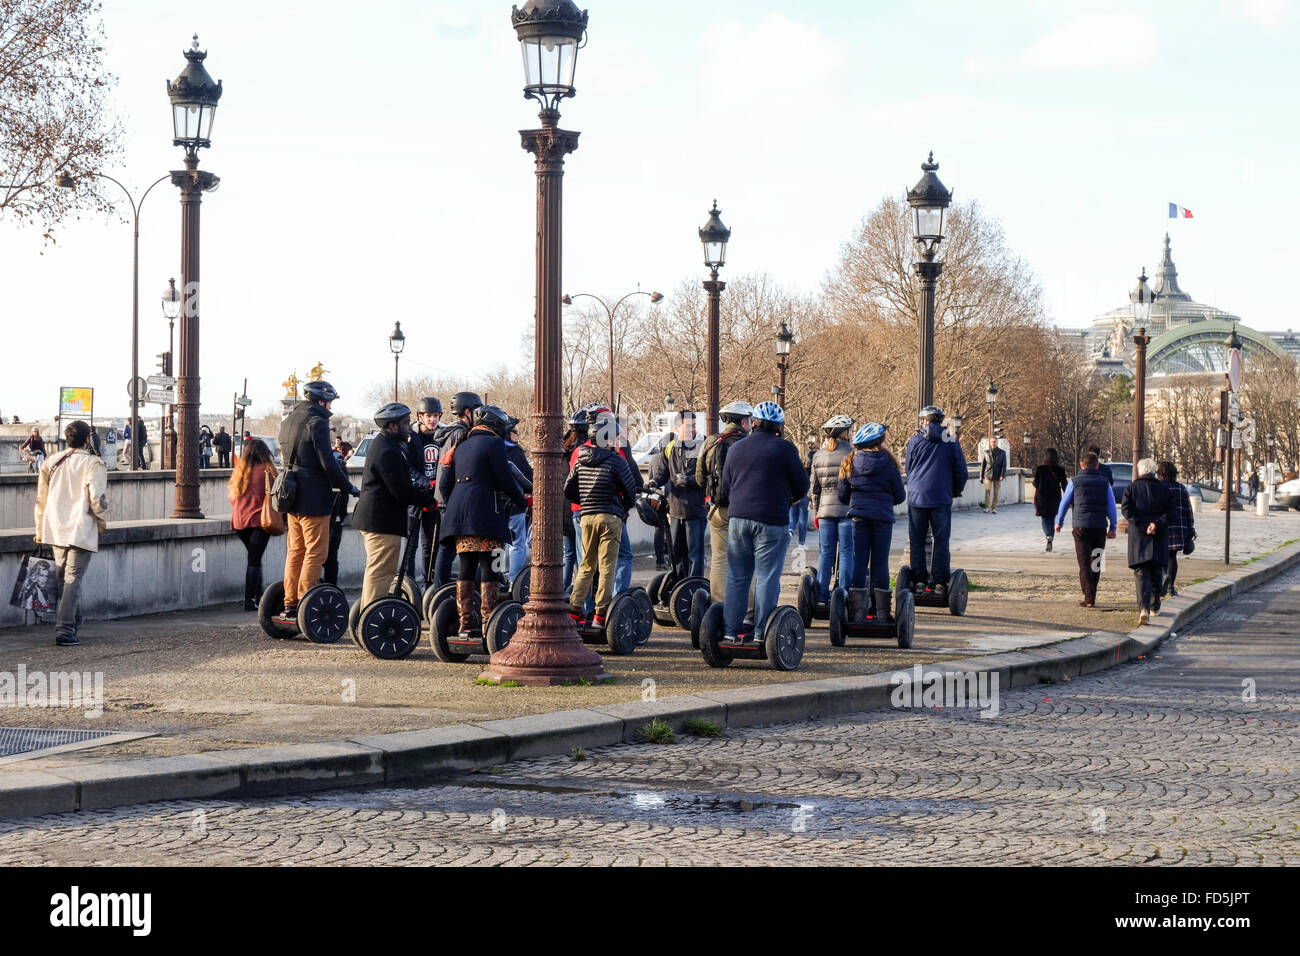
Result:
[[[199,206],[221,179],[199,170],[199,150],[212,146],[212,117],[221,82],[208,75],[199,35],[185,51],[185,69],[166,85],[172,100],[173,146],[185,147],[185,169],[173,170],[181,189],[181,360],[177,369],[177,462],[173,518],[203,518],[199,509]]]

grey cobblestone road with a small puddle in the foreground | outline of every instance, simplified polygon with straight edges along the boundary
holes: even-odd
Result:
[[[1149,661],[438,786],[0,823],[6,864],[1300,862],[1300,571]],[[1249,700],[1253,691],[1254,698]]]

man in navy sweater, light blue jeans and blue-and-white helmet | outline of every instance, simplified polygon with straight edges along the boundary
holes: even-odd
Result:
[[[790,505],[809,490],[809,475],[798,449],[781,437],[785,412],[776,402],[754,408],[754,431],[727,453],[716,505],[727,509],[727,597],[723,619],[725,640],[741,632],[754,576],[754,628],[763,632],[767,615],[781,597],[781,570]]]

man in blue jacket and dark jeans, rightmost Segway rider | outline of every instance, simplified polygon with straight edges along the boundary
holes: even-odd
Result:
[[[922,428],[911,436],[904,467],[907,471],[907,537],[911,575],[916,591],[948,589],[949,537],[953,498],[966,488],[966,459],[953,433],[942,427],[944,410],[920,410]],[[926,567],[926,533],[935,538],[931,567]]]

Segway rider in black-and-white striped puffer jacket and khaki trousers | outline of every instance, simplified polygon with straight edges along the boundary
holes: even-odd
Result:
[[[590,438],[578,446],[577,462],[564,481],[564,497],[581,506],[582,563],[573,572],[569,617],[582,620],[582,605],[592,579],[595,587],[595,614],[592,623],[604,626],[614,600],[614,578],[628,509],[636,502],[632,466],[618,451],[614,415],[603,408],[590,416]]]

